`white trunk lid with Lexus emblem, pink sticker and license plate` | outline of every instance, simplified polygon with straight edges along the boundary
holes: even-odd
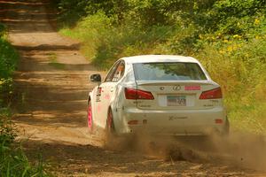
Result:
[[[137,81],[137,90],[153,95],[153,99],[137,99],[137,107],[145,110],[210,109],[220,102],[200,99],[200,95],[217,87],[212,81]]]

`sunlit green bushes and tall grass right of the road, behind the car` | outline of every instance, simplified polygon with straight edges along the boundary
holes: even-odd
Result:
[[[199,58],[223,88],[232,127],[266,133],[265,1],[59,2],[61,17],[82,9],[63,20],[77,25],[61,33],[82,41],[94,64],[108,68],[117,58],[138,54]]]

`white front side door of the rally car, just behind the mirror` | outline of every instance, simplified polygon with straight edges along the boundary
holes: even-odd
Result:
[[[106,79],[103,83],[101,83],[98,87],[98,97],[97,97],[97,117],[98,123],[100,127],[106,126],[106,115],[108,111],[108,106],[110,103],[111,95],[110,95],[110,84],[112,85],[113,74],[115,73],[120,61],[117,61],[109,72],[107,73]]]

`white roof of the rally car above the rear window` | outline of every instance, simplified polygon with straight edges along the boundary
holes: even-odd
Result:
[[[156,63],[156,62],[191,62],[199,61],[192,57],[176,56],[176,55],[141,55],[121,58],[127,63]]]

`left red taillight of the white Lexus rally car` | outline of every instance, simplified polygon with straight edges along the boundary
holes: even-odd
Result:
[[[154,99],[151,92],[140,89],[125,88],[125,96],[127,99]]]

